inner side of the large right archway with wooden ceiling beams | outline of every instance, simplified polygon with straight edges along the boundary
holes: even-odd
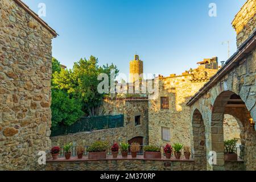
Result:
[[[240,126],[241,144],[245,146],[243,159],[248,169],[255,168],[254,152],[256,151],[256,133],[250,126],[250,112],[241,97],[232,91],[222,92],[214,101],[211,122],[211,150],[216,152],[216,164],[213,170],[224,170],[224,116],[232,115]],[[252,150],[252,148],[254,148]]]

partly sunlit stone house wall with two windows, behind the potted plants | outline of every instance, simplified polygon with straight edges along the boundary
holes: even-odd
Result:
[[[148,104],[149,143],[165,146],[166,143],[182,143],[191,146],[191,115],[186,106],[191,98],[217,69],[199,67],[183,76],[171,75],[159,79],[159,96]],[[160,109],[160,98],[169,97],[169,109]],[[170,141],[162,140],[162,127],[170,128]]]

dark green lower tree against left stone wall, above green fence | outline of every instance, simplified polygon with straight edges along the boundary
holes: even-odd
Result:
[[[72,125],[84,114],[81,109],[81,103],[65,91],[52,89],[52,127]]]

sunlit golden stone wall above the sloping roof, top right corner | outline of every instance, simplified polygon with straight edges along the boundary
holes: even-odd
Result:
[[[237,47],[241,46],[243,42],[256,28],[256,1],[247,0],[245,5],[241,8],[239,13],[234,18],[232,25],[237,32]]]

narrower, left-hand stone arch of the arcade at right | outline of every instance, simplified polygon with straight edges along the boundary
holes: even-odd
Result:
[[[198,109],[192,115],[192,158],[201,170],[207,169],[207,149],[203,117]]]

